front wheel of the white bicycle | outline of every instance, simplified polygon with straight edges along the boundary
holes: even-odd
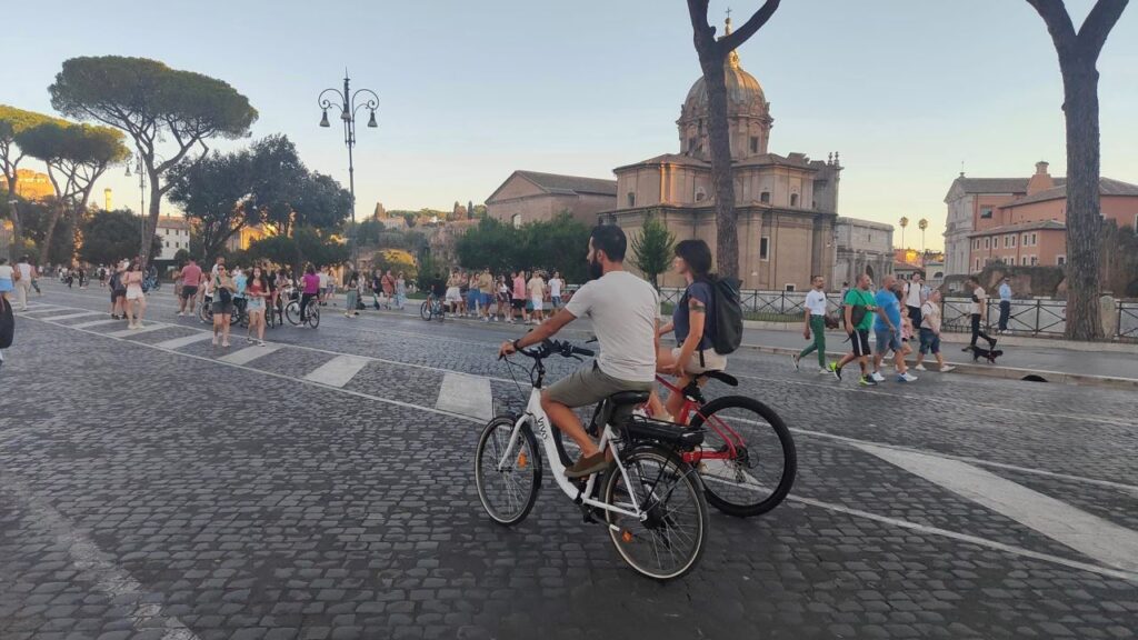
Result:
[[[490,420],[475,452],[478,499],[494,522],[506,526],[526,519],[542,489],[542,456],[528,424],[521,427],[517,442],[506,452],[513,425],[510,416]],[[505,466],[498,469],[503,459]]]

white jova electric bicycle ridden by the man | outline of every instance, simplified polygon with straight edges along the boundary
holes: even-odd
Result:
[[[633,415],[648,401],[648,392],[615,394],[602,401],[593,418],[603,425],[599,446],[612,462],[601,474],[571,481],[564,475],[571,461],[559,456],[552,434],[556,427],[542,410],[543,361],[554,354],[594,353],[553,340],[518,353],[534,360],[529,402],[523,412],[492,419],[475,454],[475,481],[486,512],[506,526],[529,515],[542,487],[544,452],[558,487],[582,509],[585,522],[603,520],[628,566],[657,580],[690,572],[703,555],[708,506],[699,474],[681,453],[699,446],[703,432]]]

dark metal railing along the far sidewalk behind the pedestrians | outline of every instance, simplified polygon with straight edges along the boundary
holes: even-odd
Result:
[[[660,289],[660,301],[675,305],[684,290],[675,287]],[[743,312],[748,320],[768,322],[794,322],[802,319],[807,292],[740,292]],[[826,294],[826,309],[835,313],[841,307],[841,294]],[[972,301],[963,297],[949,297],[943,301],[942,328],[946,331],[966,333],[971,325]],[[1138,301],[1118,301],[1118,329],[1112,339],[1121,342],[1138,342]],[[988,301],[988,321],[996,326],[999,320],[999,301]],[[1034,337],[1063,337],[1066,330],[1065,300],[1014,300],[1007,322],[1013,335]]]

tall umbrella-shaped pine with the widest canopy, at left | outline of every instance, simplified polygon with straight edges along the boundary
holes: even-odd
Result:
[[[229,84],[146,58],[72,58],[48,91],[51,106],[64,115],[121,129],[138,148],[151,184],[139,248],[143,264],[150,259],[162,198],[171,189],[166,173],[195,150],[204,157],[213,138],[248,134],[257,120],[248,98]],[[168,155],[159,158],[160,151]]]

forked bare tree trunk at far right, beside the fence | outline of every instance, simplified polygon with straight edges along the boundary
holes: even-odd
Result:
[[[1099,307],[1098,55],[1129,0],[1098,0],[1078,31],[1063,0],[1028,0],[1052,35],[1063,75],[1066,118],[1066,337],[1103,337]]]

